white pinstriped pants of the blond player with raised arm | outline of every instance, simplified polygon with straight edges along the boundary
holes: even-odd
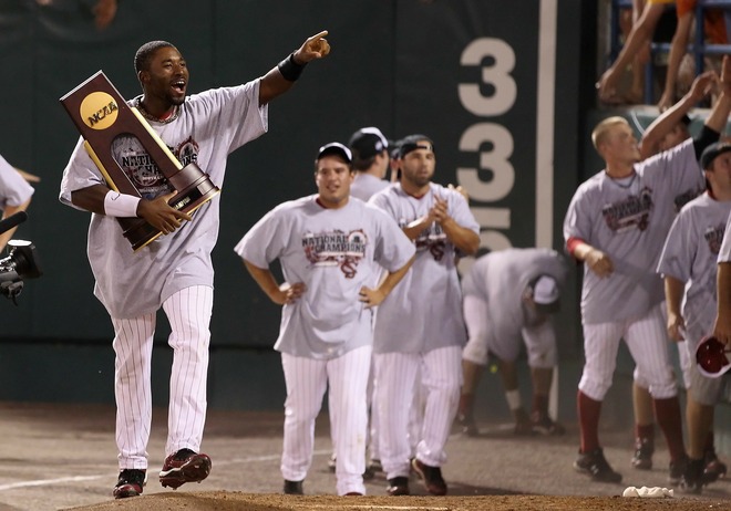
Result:
[[[579,390],[591,399],[604,400],[617,367],[619,341],[624,338],[652,397],[667,399],[678,395],[660,307],[653,306],[639,320],[584,325],[586,362]]]

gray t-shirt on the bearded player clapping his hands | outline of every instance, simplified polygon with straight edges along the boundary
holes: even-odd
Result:
[[[394,185],[375,194],[370,202],[404,228],[429,213],[434,197],[447,202],[449,215],[460,226],[480,233],[480,225],[464,197],[433,182],[420,198],[404,192],[401,185]],[[379,307],[374,353],[426,353],[466,343],[454,244],[436,222],[425,229],[415,243],[413,265]]]

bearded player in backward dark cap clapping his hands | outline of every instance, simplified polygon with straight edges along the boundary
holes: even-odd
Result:
[[[430,493],[444,494],[441,466],[456,415],[466,342],[456,257],[477,251],[480,225],[459,191],[432,182],[436,157],[429,137],[405,137],[400,153],[401,181],[370,200],[416,243],[411,271],[375,317],[379,448],[389,494],[409,493],[411,467]],[[422,435],[410,463],[408,421],[418,371],[428,397]]]

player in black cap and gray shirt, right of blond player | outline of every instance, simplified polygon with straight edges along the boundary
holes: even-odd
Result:
[[[684,338],[691,361],[686,410],[690,460],[680,481],[681,489],[691,493],[700,493],[703,484],[719,477],[707,469],[706,449],[723,378],[698,371],[696,350],[715,315],[717,260],[731,213],[731,144],[710,145],[700,161],[708,190],[682,208],[658,264],[665,278],[668,333],[675,341]]]

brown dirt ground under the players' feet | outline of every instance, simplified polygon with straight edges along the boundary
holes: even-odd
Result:
[[[625,476],[621,484],[591,482],[572,462],[578,436],[515,437],[509,425],[482,424],[482,435],[454,435],[443,469],[446,497],[428,497],[412,479],[412,497],[385,497],[382,473],[366,482],[367,497],[336,497],[327,468],[327,420],[318,421],[305,497],[281,496],[281,413],[209,413],[203,450],[210,477],[176,491],[159,486],[165,410],[155,409],[150,480],[142,497],[114,501],[114,408],[0,403],[0,511],[17,510],[688,510],[731,509],[731,481],[698,497],[627,499],[627,486],[667,487],[668,456],[658,445],[651,471],[629,468],[631,431],[603,430],[605,452]],[[661,444],[661,442],[659,442]],[[728,459],[727,459],[728,461]]]

